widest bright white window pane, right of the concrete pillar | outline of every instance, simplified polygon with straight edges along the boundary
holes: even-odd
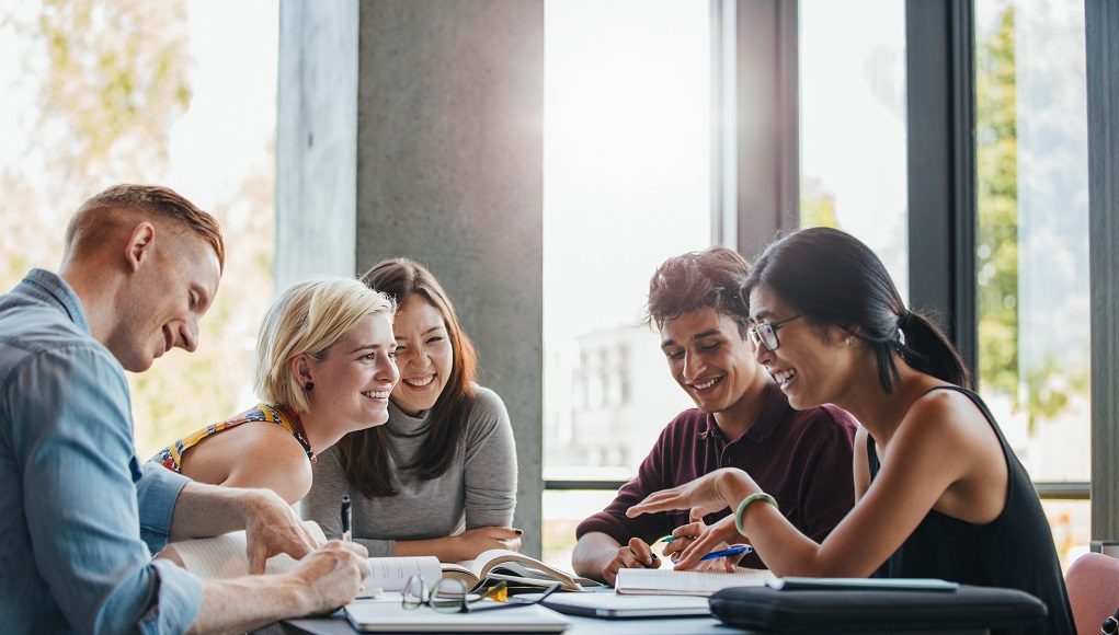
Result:
[[[709,243],[708,21],[706,2],[545,3],[546,478],[628,478],[690,405],[638,322],[657,265]],[[575,499],[545,505],[545,552],[603,502]]]

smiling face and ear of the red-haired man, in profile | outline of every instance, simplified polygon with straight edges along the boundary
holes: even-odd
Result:
[[[104,344],[132,372],[151,368],[172,348],[198,348],[198,322],[217,294],[217,254],[188,230],[159,225],[154,248],[132,274],[121,313]]]

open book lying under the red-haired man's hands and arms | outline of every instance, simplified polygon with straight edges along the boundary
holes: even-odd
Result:
[[[326,541],[322,529],[311,521],[303,523],[312,536]],[[185,569],[200,578],[238,578],[248,575],[248,556],[245,553],[245,532],[234,531],[214,538],[184,540],[172,542],[168,553],[178,557]],[[439,559],[432,556],[414,558],[369,558],[373,574],[365,579],[366,591],[382,589],[398,591],[412,576],[424,578],[429,587],[439,581]],[[292,557],[281,553],[270,558],[265,565],[266,574],[286,574],[299,562]]]

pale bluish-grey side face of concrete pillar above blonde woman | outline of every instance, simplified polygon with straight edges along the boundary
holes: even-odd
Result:
[[[357,16],[357,0],[280,4],[278,291],[355,271]]]

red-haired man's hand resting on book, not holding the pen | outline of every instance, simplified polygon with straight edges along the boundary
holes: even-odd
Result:
[[[319,547],[319,541],[303,527],[295,510],[275,492],[243,492],[239,499],[245,519],[250,574],[263,574],[264,565],[273,556],[286,553],[299,560]]]

